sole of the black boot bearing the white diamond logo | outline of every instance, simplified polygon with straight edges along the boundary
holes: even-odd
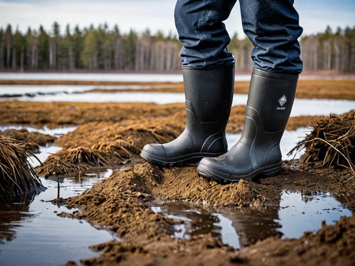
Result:
[[[260,167],[246,175],[230,175],[227,173],[216,171],[204,165],[198,165],[196,170],[199,174],[212,178],[218,182],[230,183],[238,182],[241,179],[252,180],[258,175],[264,175],[264,177],[276,176],[280,173],[281,169],[282,161],[275,165]]]

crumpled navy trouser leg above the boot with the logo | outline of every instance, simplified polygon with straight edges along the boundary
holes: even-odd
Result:
[[[303,29],[293,0],[240,0],[240,6],[244,33],[254,45],[254,68],[266,73],[301,73],[297,39]]]

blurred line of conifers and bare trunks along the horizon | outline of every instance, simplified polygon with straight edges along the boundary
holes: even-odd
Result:
[[[333,33],[328,27],[325,33],[304,37],[300,44],[305,70],[355,72],[355,28]],[[181,47],[172,34],[120,33],[117,26],[109,30],[106,24],[84,29],[67,25],[64,34],[56,22],[49,32],[40,26],[26,34],[8,25],[0,28],[0,69],[175,71],[181,68]],[[252,48],[247,38],[238,39],[237,34],[231,38],[228,50],[237,69],[251,69]]]

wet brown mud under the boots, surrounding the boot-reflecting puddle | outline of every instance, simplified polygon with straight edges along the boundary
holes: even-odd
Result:
[[[159,168],[148,163],[114,172],[82,195],[66,199],[81,212],[62,213],[109,226],[121,237],[94,247],[99,258],[83,260],[84,265],[352,265],[355,262],[355,218],[343,218],[335,226],[300,239],[267,238],[241,250],[224,246],[210,234],[187,240],[172,239],[168,219],[149,209],[151,202],[188,201],[201,208],[242,208],[266,211],[278,204],[281,190],[330,191],[355,195],[355,181],[345,180],[349,171],[323,175],[284,168],[277,177],[257,182],[240,181],[221,185],[200,177],[193,166]],[[354,202],[353,197],[348,200]],[[353,209],[354,211],[354,205]],[[345,264],[344,264],[345,263]]]

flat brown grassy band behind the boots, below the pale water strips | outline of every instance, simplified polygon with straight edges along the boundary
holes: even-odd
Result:
[[[134,111],[132,111],[134,110]],[[100,114],[100,115],[98,115]],[[244,125],[245,106],[233,106],[227,133],[241,133]],[[141,123],[150,119],[166,117],[185,123],[183,103],[84,103],[84,102],[22,102],[2,101],[0,104],[1,125],[31,125],[41,128],[48,126],[84,125],[91,122],[120,123],[121,126]],[[313,125],[322,116],[291,117],[286,130]],[[167,119],[167,121],[169,121]]]

